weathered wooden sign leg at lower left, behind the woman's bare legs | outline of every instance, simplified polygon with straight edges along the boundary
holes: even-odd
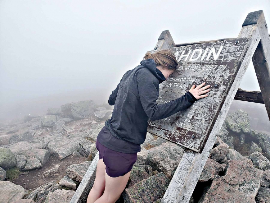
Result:
[[[96,169],[99,154],[97,152],[95,158],[92,160],[87,172],[83,176],[83,180],[73,195],[70,203],[84,203],[87,200],[90,189],[93,187],[96,178]]]

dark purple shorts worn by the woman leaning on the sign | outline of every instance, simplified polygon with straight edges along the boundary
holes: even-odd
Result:
[[[98,159],[103,159],[103,162],[106,165],[106,173],[113,178],[128,173],[137,160],[137,152],[127,154],[111,150],[102,145],[98,140],[96,142],[96,148],[99,152]]]

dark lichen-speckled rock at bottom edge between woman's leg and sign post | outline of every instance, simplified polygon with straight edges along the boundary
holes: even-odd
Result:
[[[164,173],[158,173],[137,182],[123,192],[125,203],[149,202],[152,203],[162,197],[168,188],[170,179]]]

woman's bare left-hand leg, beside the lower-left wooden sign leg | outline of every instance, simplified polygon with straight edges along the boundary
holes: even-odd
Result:
[[[97,162],[96,178],[92,189],[89,192],[87,203],[94,203],[104,192],[105,189],[105,164],[103,159]]]

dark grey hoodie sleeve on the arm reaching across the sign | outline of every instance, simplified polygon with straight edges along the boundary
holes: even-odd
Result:
[[[149,74],[141,72],[137,75],[137,87],[142,107],[152,121],[167,118],[188,108],[197,100],[190,92],[187,92],[175,100],[158,105],[156,103],[159,97],[158,85],[158,80],[151,80]]]

